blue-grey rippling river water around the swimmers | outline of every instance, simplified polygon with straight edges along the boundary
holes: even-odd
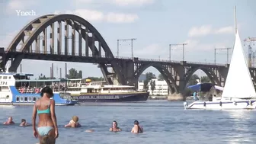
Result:
[[[0,121],[8,116],[20,123],[30,123],[32,106],[0,106]],[[81,128],[64,128],[73,115],[79,117]],[[183,102],[147,101],[146,103],[91,103],[78,106],[56,106],[59,138],[56,144],[113,143],[255,143],[256,110],[184,110]],[[123,130],[109,132],[113,120]],[[133,134],[133,121],[139,120],[144,133]],[[85,130],[93,129],[94,133]],[[34,144],[31,126],[0,124],[1,144]]]

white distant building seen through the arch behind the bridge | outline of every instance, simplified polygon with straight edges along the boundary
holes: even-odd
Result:
[[[149,94],[150,95],[168,95],[169,87],[167,83],[163,80],[160,81],[157,78],[152,79],[152,81],[155,81],[155,90],[151,90],[150,82],[148,83],[149,86]],[[144,89],[144,82],[138,82],[138,90],[142,91]]]

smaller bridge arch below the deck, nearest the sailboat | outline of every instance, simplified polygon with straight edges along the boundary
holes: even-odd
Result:
[[[196,72],[197,70],[202,70],[203,72],[206,73],[206,75],[208,76],[208,78],[210,78],[210,82],[212,82],[213,84],[217,84],[220,85],[221,83],[219,82],[218,77],[215,75],[215,73],[213,72],[212,69],[209,68],[204,68],[202,66],[197,66],[194,68],[191,68],[190,70],[188,70],[185,78],[185,85],[187,85],[187,82],[189,81],[189,79],[191,78],[191,76],[194,74],[194,72]]]

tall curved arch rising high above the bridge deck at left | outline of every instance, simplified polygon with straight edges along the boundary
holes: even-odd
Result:
[[[45,21],[40,22],[40,19],[42,18],[46,18]],[[85,19],[74,15],[74,14],[47,14],[47,15],[43,15],[39,18],[35,18],[33,21],[30,21],[29,24],[27,24],[17,35],[16,37],[14,37],[14,40],[11,41],[10,45],[8,46],[8,51],[14,51],[14,49],[16,49],[16,46],[18,46],[18,43],[24,38],[25,34],[24,34],[24,30],[32,30],[32,24],[34,23],[38,23],[40,24],[37,28],[35,28],[35,30],[32,31],[32,33],[30,34],[30,36],[27,38],[27,40],[23,43],[23,45],[21,46],[21,52],[24,52],[29,49],[29,46],[34,42],[34,40],[37,40],[37,36],[43,32],[43,30],[46,27],[49,27],[50,24],[53,24],[54,22],[58,22],[58,21],[72,21],[72,23],[77,22],[78,24],[82,24],[85,27],[88,27],[88,30],[94,34],[94,37],[97,38],[97,40],[99,42],[101,42],[101,47],[103,48],[104,52],[107,53],[107,57],[109,58],[114,58],[113,53],[110,50],[110,47],[107,45],[107,42],[104,40],[104,38],[101,36],[101,34],[98,32],[98,30],[92,25],[90,24],[88,21],[86,21]],[[69,24],[70,25],[70,24]],[[77,30],[76,30],[77,31]],[[96,47],[94,47],[95,53],[98,53],[98,50]],[[114,69],[114,72],[117,73],[118,78],[120,78],[120,83],[122,83],[123,85],[126,84],[125,83],[125,78],[121,72],[121,68],[120,65],[118,65],[117,62],[112,62],[111,63]],[[101,64],[102,66],[102,64]],[[105,68],[106,70],[106,68]],[[104,70],[104,71],[105,71]]]

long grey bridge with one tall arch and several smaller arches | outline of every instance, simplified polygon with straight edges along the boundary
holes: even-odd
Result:
[[[1,43],[0,43],[1,44]],[[137,85],[139,75],[149,68],[158,69],[171,90],[182,94],[191,75],[203,70],[216,85],[224,85],[228,65],[115,57],[107,42],[85,19],[74,14],[47,14],[30,21],[4,50],[0,49],[0,67],[16,72],[22,59],[97,63],[109,84]],[[108,67],[113,68],[109,72]],[[250,68],[253,80],[255,68]],[[255,81],[254,81],[255,84]]]

